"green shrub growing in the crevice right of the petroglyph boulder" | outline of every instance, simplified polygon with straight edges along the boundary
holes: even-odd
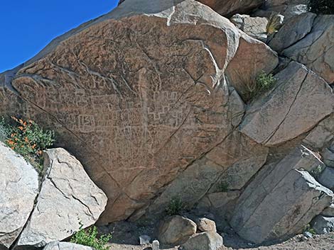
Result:
[[[247,101],[252,100],[256,96],[269,91],[276,84],[276,79],[273,74],[261,72],[254,81],[251,81],[248,86]]]

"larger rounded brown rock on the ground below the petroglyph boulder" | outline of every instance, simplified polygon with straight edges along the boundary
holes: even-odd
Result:
[[[193,236],[197,226],[192,220],[175,215],[161,222],[158,231],[158,239],[161,243],[176,246]]]

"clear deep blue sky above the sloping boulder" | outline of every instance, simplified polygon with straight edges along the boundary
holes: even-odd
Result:
[[[117,6],[118,0],[0,0],[0,72],[36,55],[53,38]]]

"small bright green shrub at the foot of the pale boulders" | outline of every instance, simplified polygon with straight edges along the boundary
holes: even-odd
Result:
[[[90,229],[80,229],[76,232],[70,242],[80,244],[83,246],[91,246],[95,250],[109,250],[109,246],[106,246],[107,242],[112,239],[111,234],[102,235],[97,238],[97,227],[90,227]]]

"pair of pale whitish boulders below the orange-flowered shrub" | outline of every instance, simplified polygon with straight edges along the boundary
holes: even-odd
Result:
[[[61,148],[47,150],[44,157],[40,178],[0,142],[0,249],[41,248],[67,239],[94,225],[104,211],[107,196],[75,157]]]

